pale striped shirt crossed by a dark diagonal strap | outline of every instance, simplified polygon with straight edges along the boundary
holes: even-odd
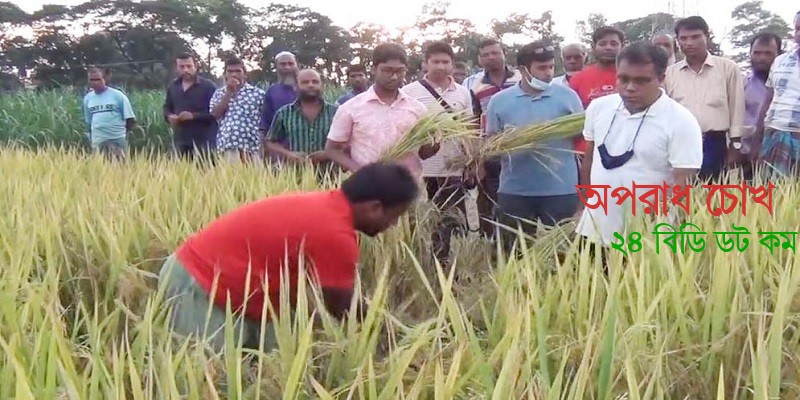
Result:
[[[428,83],[430,84],[430,82]],[[433,86],[434,90],[442,96],[442,99],[450,105],[453,112],[458,113],[466,111],[466,114],[472,115],[472,96],[469,93],[469,89],[457,84],[453,78],[450,78],[450,85],[445,89],[436,87],[436,85],[433,84],[431,84],[431,86]],[[419,81],[414,81],[403,86],[402,90],[403,93],[424,104],[431,112],[438,113],[445,111],[444,107],[439,104],[439,101],[436,100],[428,89],[425,89]],[[427,160],[422,160],[422,176],[461,176],[460,170],[447,168],[447,161],[461,153],[461,148],[457,142],[446,141],[442,143],[436,155]]]

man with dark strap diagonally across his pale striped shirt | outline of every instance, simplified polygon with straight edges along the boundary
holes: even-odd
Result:
[[[452,47],[445,42],[433,42],[426,46],[424,56],[427,73],[422,79],[404,86],[403,92],[430,111],[472,115],[469,89],[453,79],[455,55]],[[462,209],[464,204],[463,171],[448,167],[448,161],[459,154],[461,149],[457,142],[444,142],[436,155],[422,161],[422,177],[428,190],[428,199],[445,214],[433,237],[434,254],[442,263],[449,260],[450,238],[458,228],[458,219],[449,214]]]

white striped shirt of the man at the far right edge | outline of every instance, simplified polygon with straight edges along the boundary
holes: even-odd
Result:
[[[797,52],[784,53],[775,59],[766,86],[775,92],[764,125],[800,133],[800,57]]]

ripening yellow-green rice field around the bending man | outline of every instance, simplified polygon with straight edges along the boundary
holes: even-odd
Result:
[[[4,138],[11,117],[54,143],[80,134],[66,101],[41,96],[0,100]],[[305,310],[316,291],[303,286],[300,312],[276,324],[279,351],[242,350],[230,331],[215,354],[165,329],[163,259],[243,202],[333,183],[147,154],[110,164],[67,147],[0,148],[2,399],[800,398],[797,256],[755,235],[743,252],[709,236],[700,252],[656,253],[644,218],[632,222],[641,251],[613,250],[608,275],[576,246],[574,224],[512,260],[462,238],[443,270],[429,251],[437,213],[420,203],[363,238],[364,324],[315,328]],[[774,216],[750,206],[714,217],[697,189],[687,220],[797,232],[798,184],[774,183]]]

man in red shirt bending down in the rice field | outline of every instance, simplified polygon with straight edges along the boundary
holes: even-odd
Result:
[[[321,287],[328,312],[343,318],[357,273],[356,231],[376,236],[389,229],[418,192],[406,168],[375,163],[356,171],[340,189],[273,196],[223,215],[191,236],[161,270],[171,328],[209,337],[221,349],[229,299],[235,338],[241,333],[243,346],[258,348],[263,336],[265,348],[275,348],[270,321],[281,312],[282,286],[295,304],[301,263]]]

